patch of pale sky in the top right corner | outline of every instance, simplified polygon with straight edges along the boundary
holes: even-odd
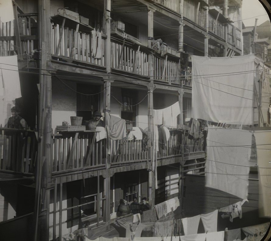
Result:
[[[264,16],[258,16],[258,15],[264,15]],[[258,17],[255,17],[255,16],[258,16]],[[265,11],[264,7],[258,0],[243,0],[242,19],[245,19],[243,20],[243,23],[245,24],[245,26],[254,26],[255,18],[258,19],[257,25],[260,25],[266,20],[269,20],[267,12]]]

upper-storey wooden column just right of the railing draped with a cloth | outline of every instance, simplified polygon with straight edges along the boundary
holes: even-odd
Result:
[[[111,26],[110,26],[110,12],[111,12],[111,0],[104,0],[104,28],[105,34],[107,38],[105,39],[105,48],[104,48],[104,56],[105,56],[105,67],[106,72],[111,72],[111,58],[110,58],[110,38],[111,38]]]

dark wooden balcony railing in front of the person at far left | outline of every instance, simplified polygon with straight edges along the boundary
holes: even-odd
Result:
[[[33,173],[37,139],[33,131],[0,128],[0,169]]]

